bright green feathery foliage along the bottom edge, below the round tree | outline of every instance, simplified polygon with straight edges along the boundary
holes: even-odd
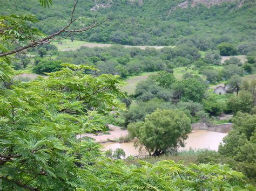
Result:
[[[99,162],[96,167],[90,167],[89,174],[93,175],[89,176],[91,183],[88,186],[95,190],[253,189],[253,186],[245,185],[244,175],[227,165],[184,166],[172,160],[163,160],[154,165],[145,161],[139,163],[140,166],[127,166],[120,160]]]

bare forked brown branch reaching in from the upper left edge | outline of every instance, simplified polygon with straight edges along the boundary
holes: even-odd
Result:
[[[70,22],[68,25],[66,25],[65,27],[63,27],[62,30],[56,32],[56,33],[53,33],[51,34],[50,36],[48,37],[45,37],[43,39],[40,39],[38,41],[32,41],[32,43],[26,45],[26,46],[23,46],[23,47],[19,47],[17,49],[14,49],[12,51],[9,51],[9,52],[4,52],[4,53],[0,53],[0,57],[2,56],[7,56],[7,55],[10,55],[10,54],[15,54],[15,53],[18,53],[18,52],[21,52],[21,51],[24,51],[25,49],[28,49],[28,48],[31,48],[31,47],[35,47],[35,46],[38,46],[38,45],[43,45],[43,44],[48,44],[48,43],[51,43],[52,40],[56,40],[56,39],[62,39],[62,38],[65,38],[65,37],[68,37],[70,36],[70,34],[74,33],[74,32],[84,32],[84,31],[87,31],[87,30],[90,30],[90,29],[93,29],[94,27],[96,26],[99,26],[103,23],[105,23],[107,20],[109,20],[109,18],[106,18],[105,20],[103,20],[102,22],[98,23],[97,20],[95,19],[95,22],[93,24],[91,24],[90,26],[87,26],[87,27],[83,27],[81,29],[74,29],[74,30],[68,30],[69,27],[73,24],[73,22],[75,22],[77,19],[74,19],[73,18],[73,13],[75,12],[75,9],[76,9],[76,6],[77,6],[77,3],[78,3],[79,0],[75,1],[74,2],[74,5],[73,5],[73,9],[72,9],[72,13],[71,13],[71,19],[70,19]],[[63,37],[59,37],[59,38],[55,38],[56,36],[59,36],[60,34],[62,33],[68,33],[66,34],[65,36]]]

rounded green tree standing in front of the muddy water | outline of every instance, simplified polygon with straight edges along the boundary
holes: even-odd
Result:
[[[138,143],[144,145],[150,155],[159,156],[184,146],[191,126],[183,111],[157,109],[145,117],[145,122],[129,124],[128,131],[132,137],[138,137]]]

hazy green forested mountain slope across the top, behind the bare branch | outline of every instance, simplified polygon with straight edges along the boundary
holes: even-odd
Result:
[[[3,1],[1,13],[32,13],[45,33],[59,30],[70,19],[72,1],[56,0],[51,9],[35,6],[37,0]],[[110,17],[96,29],[75,36],[98,43],[126,45],[173,45],[189,42],[201,50],[229,43],[255,40],[256,3],[252,0],[80,0],[76,26]]]

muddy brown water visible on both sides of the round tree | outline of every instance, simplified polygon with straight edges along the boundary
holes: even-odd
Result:
[[[212,131],[205,130],[194,130],[188,135],[186,140],[186,146],[181,148],[181,150],[189,150],[189,148],[199,149],[199,148],[208,148],[210,150],[218,150],[218,146],[222,139],[227,135],[227,133],[217,133]],[[128,155],[138,155],[138,148],[133,146],[134,141],[129,143],[103,143],[103,150],[109,150],[110,148],[114,151],[116,148],[123,148]],[[142,155],[147,154],[144,150]]]

